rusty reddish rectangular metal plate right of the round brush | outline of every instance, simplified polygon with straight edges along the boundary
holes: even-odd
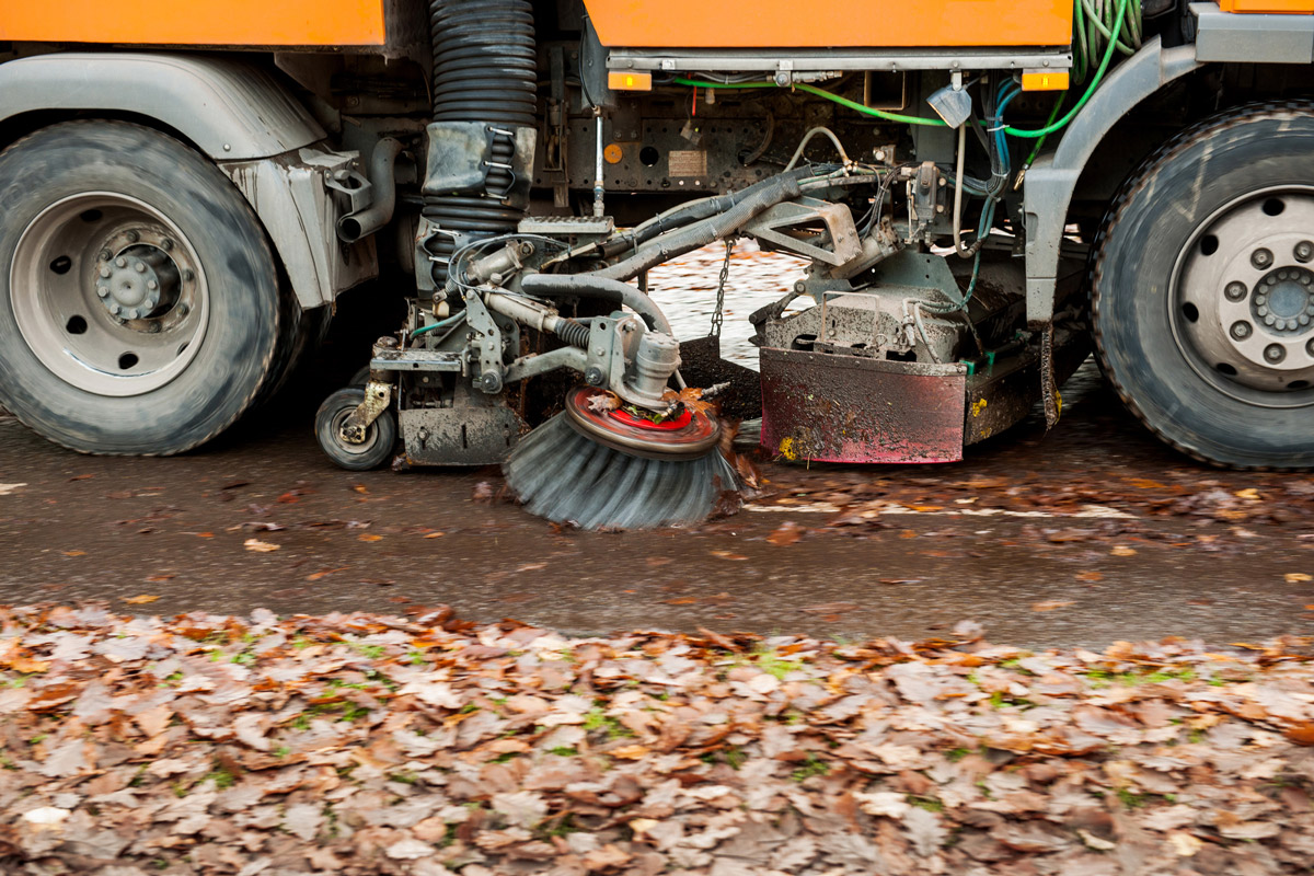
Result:
[[[762,447],[787,460],[963,458],[963,365],[763,347]]]

